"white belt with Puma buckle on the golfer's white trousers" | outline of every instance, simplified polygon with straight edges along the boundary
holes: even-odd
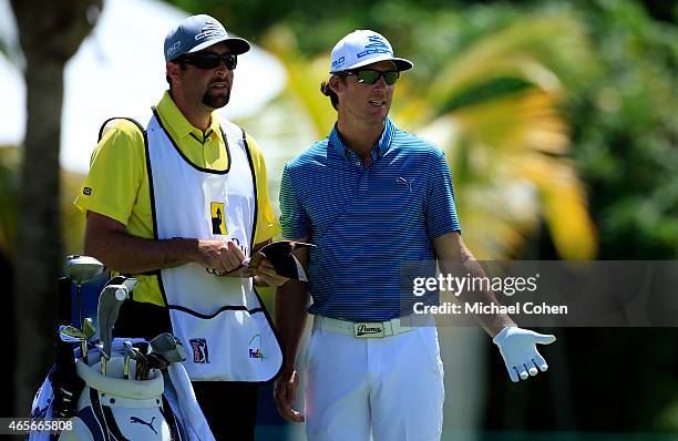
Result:
[[[343,334],[356,338],[383,338],[412,330],[412,316],[399,317],[388,321],[347,321],[316,316],[314,329]]]

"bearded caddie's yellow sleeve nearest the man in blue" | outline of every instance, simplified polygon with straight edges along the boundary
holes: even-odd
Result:
[[[268,172],[264,152],[249,134],[245,134],[257,181],[257,225],[255,226],[255,244],[266,242],[280,234],[280,224],[273,213],[268,193]]]

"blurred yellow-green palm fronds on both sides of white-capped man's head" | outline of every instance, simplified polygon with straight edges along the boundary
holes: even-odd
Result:
[[[305,60],[284,27],[271,29],[264,47],[284,63],[288,86],[265,114],[243,123],[269,146],[275,180],[281,163],[328,133],[335,112],[319,93],[326,57]],[[532,17],[451,58],[425,88],[407,78],[399,83],[391,116],[444,147],[462,227],[470,226],[464,238],[477,258],[511,257],[541,219],[563,258],[595,256],[595,228],[558,111],[567,84],[585,74],[578,66],[592,63],[587,48],[571,17]],[[507,82],[508,92],[497,88]]]

